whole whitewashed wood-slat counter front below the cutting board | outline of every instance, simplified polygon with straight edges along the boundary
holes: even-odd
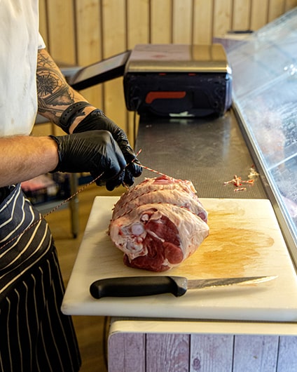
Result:
[[[296,350],[297,336],[117,331],[109,372],[296,372]]]

